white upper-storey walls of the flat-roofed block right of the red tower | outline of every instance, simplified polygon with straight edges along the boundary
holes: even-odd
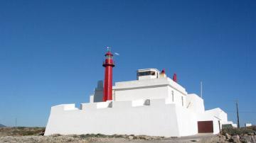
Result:
[[[137,99],[167,98],[174,91],[174,102],[186,105],[186,90],[169,78],[144,79],[137,81],[117,82],[113,86],[114,101],[133,101]]]

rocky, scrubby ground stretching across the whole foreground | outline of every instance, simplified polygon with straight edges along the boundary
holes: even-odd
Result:
[[[189,137],[149,137],[144,135],[51,135],[43,136],[44,128],[41,127],[0,127],[0,142],[151,142],[151,143],[181,143],[181,142],[201,142],[201,143],[213,143],[213,142],[251,142],[256,143],[255,133],[250,135],[211,135],[211,134],[199,134]]]

